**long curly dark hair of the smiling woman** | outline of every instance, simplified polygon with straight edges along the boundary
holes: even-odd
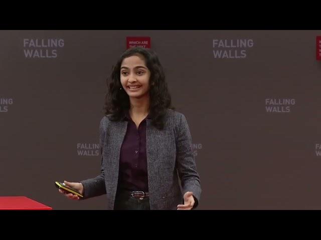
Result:
[[[141,54],[145,58],[145,64],[150,71],[149,78],[149,116],[151,124],[157,129],[164,128],[164,116],[167,109],[174,109],[171,103],[171,95],[165,80],[165,73],[156,53],[148,48],[128,48],[119,57],[116,65],[112,67],[111,75],[107,78],[107,93],[105,96],[104,112],[109,114],[110,120],[120,120],[129,110],[129,96],[121,89],[120,67],[124,58]]]

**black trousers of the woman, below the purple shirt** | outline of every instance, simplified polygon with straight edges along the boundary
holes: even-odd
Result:
[[[134,198],[130,191],[117,191],[114,210],[150,210],[149,197]]]

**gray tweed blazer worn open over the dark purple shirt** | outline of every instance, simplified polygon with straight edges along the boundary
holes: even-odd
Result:
[[[146,119],[146,154],[150,209],[177,209],[183,194],[193,191],[195,207],[201,197],[200,177],[192,151],[192,138],[185,116],[168,110],[165,127],[158,130]],[[107,195],[107,208],[114,208],[118,183],[120,147],[127,121],[100,122],[101,172],[95,178],[81,181],[84,199]],[[179,183],[181,180],[181,186]]]

